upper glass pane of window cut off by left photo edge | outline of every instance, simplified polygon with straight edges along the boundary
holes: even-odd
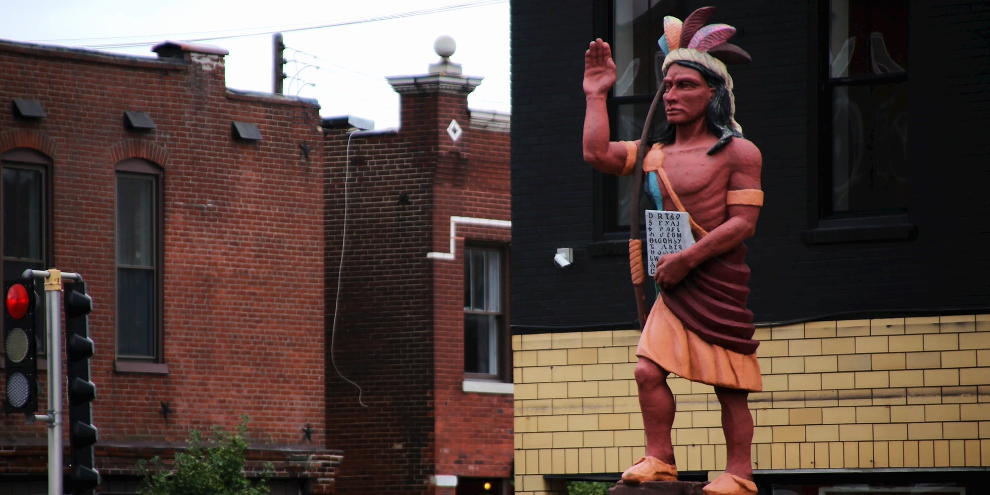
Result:
[[[37,168],[3,168],[3,255],[44,261],[44,175]],[[10,278],[10,273],[5,273]],[[20,276],[20,275],[18,275]]]

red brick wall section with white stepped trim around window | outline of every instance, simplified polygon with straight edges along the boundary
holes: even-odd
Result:
[[[463,117],[457,121],[465,122]],[[450,217],[507,221],[510,215],[508,133],[468,126],[460,140],[460,161],[441,160],[437,170],[434,247],[439,252],[449,249]],[[457,226],[454,259],[434,262],[438,474],[512,475],[512,396],[463,392],[464,258],[459,255],[468,243],[507,248],[510,240],[508,228]]]

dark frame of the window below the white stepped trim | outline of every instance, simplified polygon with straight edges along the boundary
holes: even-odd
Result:
[[[499,290],[499,310],[497,312],[493,311],[483,311],[483,310],[472,310],[468,309],[466,306],[462,308],[461,323],[465,323],[467,315],[496,315],[497,316],[497,336],[495,342],[497,348],[495,350],[495,360],[498,369],[495,373],[478,373],[470,372],[466,370],[466,360],[461,368],[464,371],[465,381],[493,381],[493,382],[512,382],[512,336],[509,331],[509,255],[508,247],[503,244],[494,243],[470,243],[466,244],[464,247],[464,255],[461,266],[463,267],[463,281],[464,285],[469,283],[470,270],[468,267],[468,260],[470,259],[470,254],[472,251],[486,251],[495,252],[498,255],[499,260],[499,273],[498,273],[498,290]],[[487,271],[487,270],[486,270]],[[463,331],[461,336],[466,339],[467,329],[466,326],[462,327]],[[463,341],[462,351],[465,351],[464,357],[466,358],[466,341]]]

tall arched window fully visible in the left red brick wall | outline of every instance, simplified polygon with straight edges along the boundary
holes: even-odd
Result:
[[[117,165],[117,355],[160,358],[160,171],[148,161]]]

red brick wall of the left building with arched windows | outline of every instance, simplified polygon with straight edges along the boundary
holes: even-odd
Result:
[[[0,69],[0,152],[51,158],[49,262],[81,273],[94,300],[98,455],[182,446],[189,429],[231,428],[242,413],[261,450],[323,451],[323,281],[307,276],[323,273],[318,106],[227,90],[215,52],[155,59],[3,42]],[[39,101],[48,117],[15,119],[12,98]],[[156,129],[126,130],[126,110],[148,112]],[[233,140],[232,121],[257,124],[262,140]],[[129,157],[163,170],[167,374],[115,370],[114,164]],[[8,473],[25,465],[19,446],[46,435],[13,416],[0,432],[15,450]],[[133,472],[134,459],[103,460]]]

